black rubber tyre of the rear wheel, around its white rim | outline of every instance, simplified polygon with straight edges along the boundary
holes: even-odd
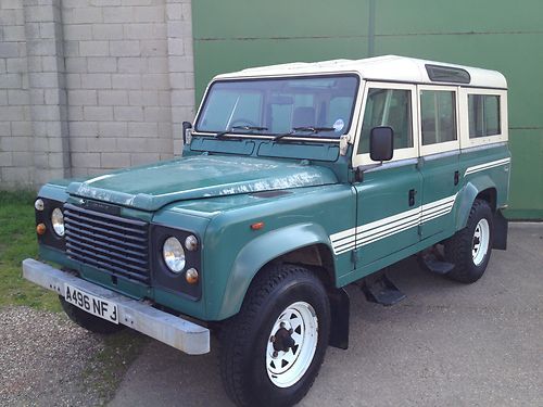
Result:
[[[477,242],[475,232],[482,219],[488,224],[489,236],[485,240],[488,246],[484,256],[476,263],[473,258],[473,247]],[[482,277],[492,252],[492,209],[488,202],[476,200],[469,212],[467,226],[445,242],[445,259],[454,264],[454,269],[447,272],[446,277],[467,284],[476,282]],[[481,244],[480,240],[479,244]]]

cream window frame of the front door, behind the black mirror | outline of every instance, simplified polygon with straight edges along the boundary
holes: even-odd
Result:
[[[364,86],[364,94],[363,94],[363,103],[361,107],[361,114],[358,124],[356,126],[355,140],[353,145],[353,168],[356,168],[361,165],[376,164],[378,162],[372,161],[369,157],[369,153],[358,154],[358,143],[362,138],[362,126],[364,123],[364,114],[366,112],[366,102],[367,96],[370,89],[393,89],[393,90],[409,90],[411,91],[411,106],[412,106],[412,137],[413,137],[413,147],[403,148],[403,149],[394,149],[394,154],[390,162],[396,162],[401,160],[407,158],[416,158],[419,153],[419,142],[417,138],[419,137],[419,125],[418,125],[418,103],[417,103],[417,86],[415,84],[396,84],[396,82],[380,82],[380,81],[366,81]]]

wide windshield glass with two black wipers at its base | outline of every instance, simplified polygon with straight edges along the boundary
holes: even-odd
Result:
[[[195,131],[337,138],[349,131],[355,75],[218,80]]]

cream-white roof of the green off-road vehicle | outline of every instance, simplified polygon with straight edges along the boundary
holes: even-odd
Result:
[[[431,80],[428,76],[427,65],[438,67],[459,68],[469,74],[469,82]],[[505,77],[490,69],[471,66],[449,64],[443,62],[418,60],[415,58],[384,55],[367,58],[364,60],[332,60],[323,62],[294,62],[290,64],[252,67],[229,74],[217,75],[215,79],[232,79],[258,76],[285,76],[307,74],[358,73],[367,80],[402,81],[416,84],[452,84],[483,88],[507,88]]]

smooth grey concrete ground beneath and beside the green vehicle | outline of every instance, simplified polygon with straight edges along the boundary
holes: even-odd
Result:
[[[390,274],[407,298],[367,303],[350,287],[351,344],[328,348],[301,406],[543,406],[543,224],[512,224],[472,285],[406,259]],[[230,406],[217,354],[152,342],[111,406]]]

